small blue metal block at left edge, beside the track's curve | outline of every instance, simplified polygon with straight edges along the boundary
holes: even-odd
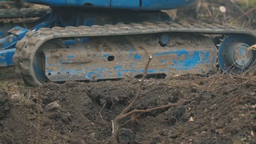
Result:
[[[15,48],[0,51],[0,67],[7,67],[13,65],[13,54]]]

